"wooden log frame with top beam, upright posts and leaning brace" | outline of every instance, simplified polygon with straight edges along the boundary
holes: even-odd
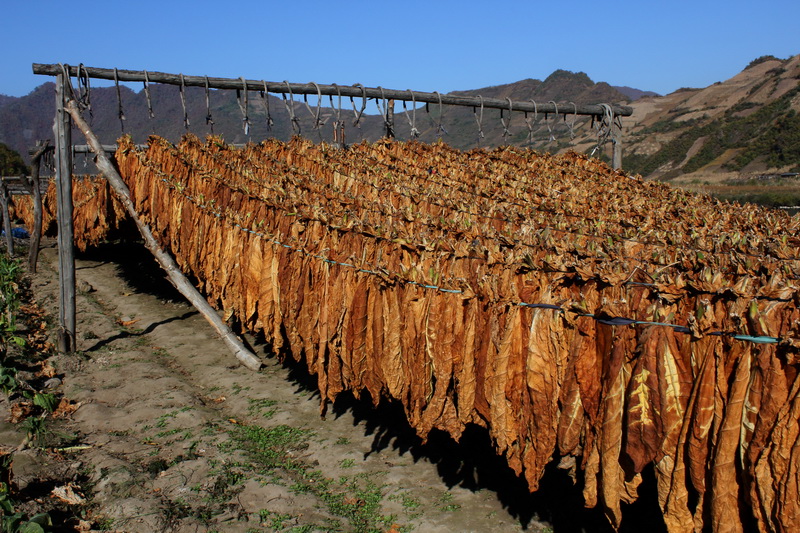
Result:
[[[103,79],[112,80],[115,83],[119,82],[144,82],[145,84],[154,82],[168,85],[177,85],[180,87],[204,87],[206,89],[233,89],[240,91],[262,91],[267,93],[289,94],[290,97],[296,94],[302,95],[316,95],[321,98],[326,96],[338,97],[351,97],[362,98],[363,108],[366,107],[368,99],[375,99],[384,102],[383,117],[386,123],[386,134],[388,137],[394,136],[394,102],[397,100],[403,102],[423,102],[426,104],[454,105],[454,106],[467,106],[477,109],[480,107],[481,111],[485,108],[508,110],[509,113],[517,112],[534,112],[543,113],[545,119],[548,114],[561,114],[566,119],[567,115],[583,115],[591,116],[593,119],[602,120],[604,117],[609,120],[609,130],[611,131],[611,142],[613,143],[613,161],[614,168],[621,166],[622,145],[619,140],[620,125],[615,117],[630,116],[633,112],[632,108],[628,106],[609,105],[609,104],[572,104],[571,106],[561,106],[559,109],[558,104],[555,102],[547,102],[537,104],[533,100],[530,101],[512,101],[511,99],[496,99],[496,98],[483,98],[480,96],[460,96],[440,94],[439,92],[415,92],[411,90],[396,90],[384,89],[383,87],[364,87],[363,85],[356,84],[352,86],[340,86],[336,84],[320,85],[317,83],[289,83],[284,81],[267,82],[263,80],[246,80],[244,78],[216,78],[208,76],[184,76],[183,74],[167,74],[163,72],[148,72],[148,71],[135,71],[135,70],[119,70],[107,68],[95,68],[79,66],[69,66],[64,64],[33,64],[33,73],[38,75],[55,76],[56,77],[56,112],[53,124],[53,133],[56,140],[55,145],[55,168],[56,168],[56,184],[57,184],[57,202],[58,202],[58,249],[59,249],[59,284],[60,284],[60,297],[59,297],[59,336],[58,348],[62,352],[73,352],[75,346],[75,330],[76,330],[76,317],[75,317],[75,256],[73,246],[73,205],[72,205],[72,123],[73,121],[80,127],[86,136],[89,144],[88,149],[95,153],[98,159],[98,166],[101,171],[112,183],[117,193],[123,198],[125,203],[126,188],[122,180],[115,174],[113,165],[110,163],[106,156],[108,146],[102,146],[99,140],[91,132],[91,129],[80,118],[80,110],[75,103],[74,94],[72,93],[72,85],[70,78],[77,77],[87,81],[88,79]],[[615,131],[616,129],[616,131]],[[116,185],[115,185],[116,183]],[[129,202],[128,202],[129,203]],[[126,207],[128,207],[126,205]],[[197,307],[202,305],[205,300],[196,295],[196,289],[191,284],[183,283],[177,277],[173,277],[177,267],[173,267],[169,263],[171,258],[168,254],[163,253],[155,246],[155,241],[150,243],[152,235],[148,238],[149,229],[140,224],[138,216],[129,208],[129,214],[137,221],[140,231],[142,232],[145,241],[148,243],[148,248],[156,256],[164,270],[167,271],[171,281],[176,287],[184,293],[185,296]],[[153,244],[153,247],[150,246]],[[38,246],[36,247],[38,249]],[[160,252],[160,253],[159,253]],[[166,262],[165,262],[166,261]],[[174,263],[174,261],[173,261]],[[180,274],[180,272],[177,272]],[[182,275],[181,275],[182,277]],[[188,287],[187,287],[188,285]],[[193,291],[193,292],[192,292]],[[190,294],[191,293],[191,294]],[[200,302],[199,300],[202,300]],[[207,305],[207,302],[206,302]],[[199,309],[201,310],[201,309]],[[218,316],[213,313],[209,307],[208,310],[201,310],[206,315],[209,322],[221,333],[224,339],[229,340],[228,334],[230,331],[223,331],[224,324],[218,323]],[[211,312],[214,316],[209,316]],[[216,317],[216,318],[215,318]],[[232,334],[231,334],[232,335]],[[241,343],[231,341],[231,347],[239,358],[246,366],[251,368],[258,368],[259,363],[255,360],[255,356],[244,355],[246,351],[241,346]],[[248,352],[249,353],[249,352]]]

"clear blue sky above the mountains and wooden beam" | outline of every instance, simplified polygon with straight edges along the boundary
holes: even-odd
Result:
[[[800,53],[800,1],[3,0],[0,94],[32,63],[448,92],[556,69],[661,94]],[[100,85],[100,84],[98,84]]]

